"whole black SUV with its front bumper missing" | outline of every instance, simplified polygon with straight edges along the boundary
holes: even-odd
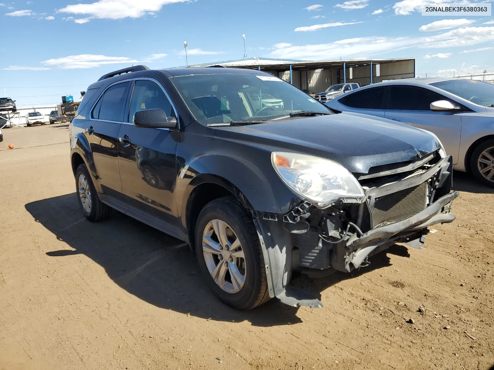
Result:
[[[264,105],[265,96],[281,103]],[[335,114],[336,113],[336,114]],[[70,129],[78,201],[190,244],[212,292],[321,307],[293,271],[350,272],[452,222],[452,160],[429,132],[337,113],[268,73],[116,71],[90,85]]]

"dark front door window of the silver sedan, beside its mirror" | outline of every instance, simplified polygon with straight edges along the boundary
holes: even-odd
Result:
[[[446,98],[434,91],[415,86],[395,85],[390,87],[386,110],[430,111],[430,104]]]

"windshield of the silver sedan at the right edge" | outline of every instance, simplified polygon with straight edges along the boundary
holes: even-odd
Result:
[[[453,79],[433,82],[430,85],[469,100],[472,103],[494,107],[494,85],[473,79]]]

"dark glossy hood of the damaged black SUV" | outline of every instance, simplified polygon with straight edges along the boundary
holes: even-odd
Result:
[[[405,162],[440,148],[429,133],[400,122],[343,112],[294,117],[249,126],[215,127],[219,138],[266,150],[309,154],[340,163],[352,173]]]

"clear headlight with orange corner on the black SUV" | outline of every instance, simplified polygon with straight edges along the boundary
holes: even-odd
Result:
[[[338,198],[358,198],[362,202],[365,196],[357,179],[345,167],[328,159],[273,152],[271,162],[285,184],[318,208],[325,208]]]

